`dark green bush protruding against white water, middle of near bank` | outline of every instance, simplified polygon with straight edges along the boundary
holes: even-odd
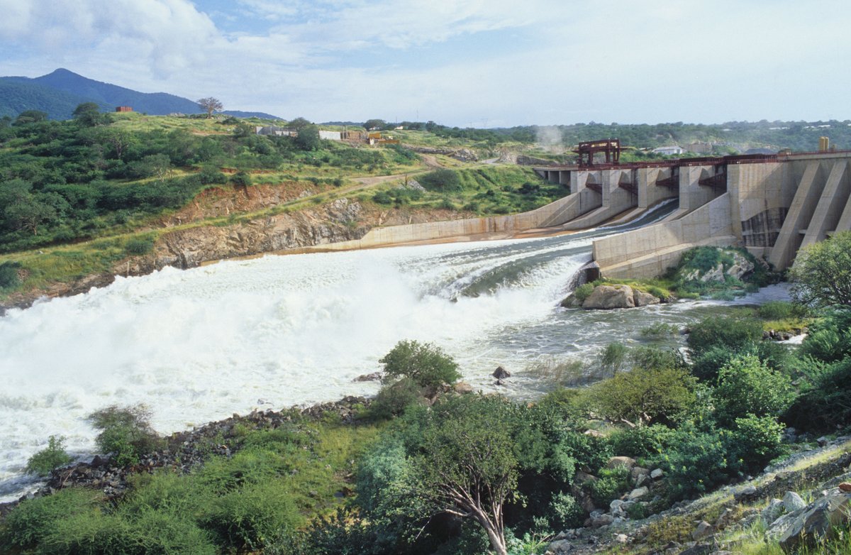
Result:
[[[416,340],[401,340],[379,360],[384,364],[387,382],[393,378],[410,378],[420,386],[452,384],[461,375],[458,364],[438,346]]]

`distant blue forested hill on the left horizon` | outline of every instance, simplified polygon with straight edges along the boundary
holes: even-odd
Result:
[[[24,110],[41,110],[51,119],[68,119],[74,108],[83,102],[94,102],[105,112],[112,112],[116,106],[131,106],[134,112],[154,116],[201,112],[196,102],[174,94],[140,93],[61,68],[42,77],[0,77],[0,116],[14,117]],[[224,113],[277,119],[263,112]]]

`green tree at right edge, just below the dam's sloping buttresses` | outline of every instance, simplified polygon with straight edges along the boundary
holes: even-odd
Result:
[[[789,273],[798,301],[851,306],[851,232],[802,248]]]

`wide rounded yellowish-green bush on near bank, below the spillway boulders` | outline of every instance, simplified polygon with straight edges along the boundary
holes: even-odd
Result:
[[[635,368],[588,392],[591,409],[613,421],[677,421],[694,404],[694,378],[680,368]]]

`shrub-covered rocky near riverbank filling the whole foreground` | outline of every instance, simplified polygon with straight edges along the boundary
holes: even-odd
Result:
[[[403,340],[380,360],[372,399],[168,438],[143,408],[98,410],[103,455],[66,466],[54,437],[30,464],[48,485],[4,507],[0,546],[848,552],[849,242],[839,233],[802,252],[796,303],[694,322],[684,352],[608,348],[587,361],[593,383],[534,403],[472,392],[439,346]],[[763,333],[787,317],[808,318],[800,346]]]

